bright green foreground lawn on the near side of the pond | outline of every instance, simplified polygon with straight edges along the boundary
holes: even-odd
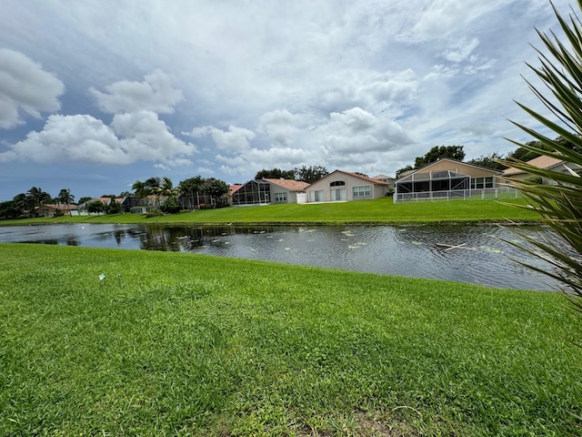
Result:
[[[557,293],[25,244],[0,283],[0,435],[577,432]]]

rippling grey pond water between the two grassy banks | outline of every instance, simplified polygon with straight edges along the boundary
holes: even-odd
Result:
[[[536,238],[551,237],[548,229],[540,227],[519,230]],[[0,227],[0,242],[172,250],[502,288],[558,290],[553,279],[510,259],[547,266],[502,239],[520,241],[510,229],[467,225]]]

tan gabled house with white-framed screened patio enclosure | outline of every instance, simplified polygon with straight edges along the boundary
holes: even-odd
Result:
[[[449,198],[470,195],[471,190],[504,186],[501,172],[442,158],[396,180],[394,201],[408,198]]]

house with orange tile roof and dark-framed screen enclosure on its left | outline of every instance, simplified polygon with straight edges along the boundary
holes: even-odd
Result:
[[[306,182],[293,179],[253,179],[237,188],[231,188],[234,207],[269,205],[271,203],[297,203],[305,201]]]

